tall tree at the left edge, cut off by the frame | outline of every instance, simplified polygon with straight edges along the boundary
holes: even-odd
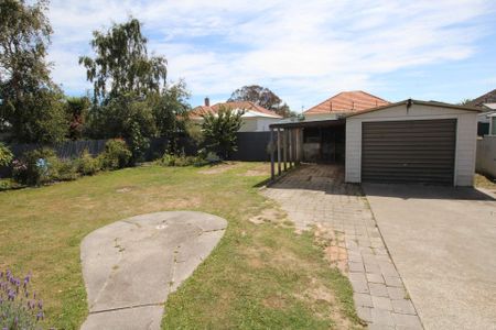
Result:
[[[52,143],[66,134],[62,91],[45,61],[52,28],[47,1],[0,1],[0,124],[20,142]]]

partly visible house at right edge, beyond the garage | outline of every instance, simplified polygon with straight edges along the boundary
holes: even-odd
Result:
[[[467,106],[483,111],[477,117],[477,135],[496,135],[496,89],[473,99]]]

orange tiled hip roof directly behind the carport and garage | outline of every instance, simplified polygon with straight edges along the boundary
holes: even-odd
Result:
[[[389,105],[388,101],[363,90],[342,91],[320,105],[304,111],[304,114],[333,112],[357,112]]]

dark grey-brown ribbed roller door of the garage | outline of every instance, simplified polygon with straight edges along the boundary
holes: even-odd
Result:
[[[456,120],[364,122],[362,180],[453,184]]]

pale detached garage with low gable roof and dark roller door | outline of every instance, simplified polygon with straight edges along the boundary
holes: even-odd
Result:
[[[348,116],[346,182],[472,186],[477,113],[409,99]]]

